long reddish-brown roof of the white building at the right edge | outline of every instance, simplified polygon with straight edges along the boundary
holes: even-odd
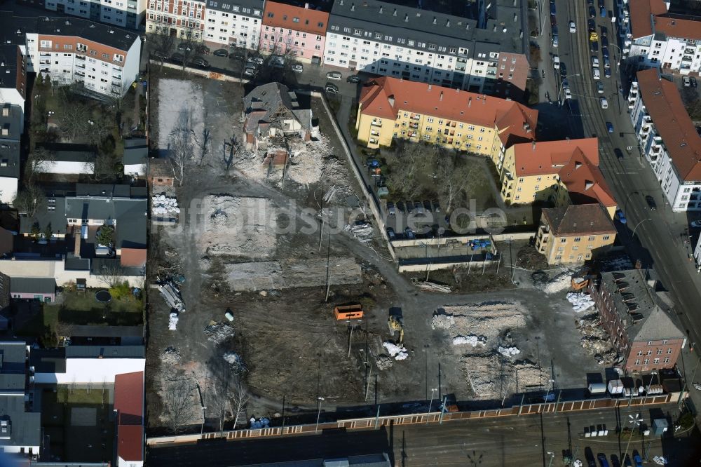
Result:
[[[662,79],[658,69],[638,72],[645,107],[682,180],[701,180],[701,136],[696,131],[676,85]]]

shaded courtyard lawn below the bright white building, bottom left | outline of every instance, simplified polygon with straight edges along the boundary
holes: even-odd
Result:
[[[104,402],[103,402],[104,398]],[[56,392],[46,389],[41,395],[41,425],[50,436],[51,452],[63,461],[107,462],[112,458],[114,421],[109,419],[109,392],[96,385],[71,390],[58,386]],[[95,419],[79,425],[72,420],[74,408],[92,409]]]

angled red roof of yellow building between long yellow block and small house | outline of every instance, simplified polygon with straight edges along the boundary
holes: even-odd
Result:
[[[557,174],[573,203],[616,205],[599,170],[597,138],[516,144],[514,158],[517,177]]]

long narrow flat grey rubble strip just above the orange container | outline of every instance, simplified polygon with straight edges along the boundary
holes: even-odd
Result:
[[[236,292],[318,287],[327,280],[326,258],[287,259],[226,264],[226,282]],[[352,257],[329,258],[328,279],[331,285],[358,284],[360,266]]]

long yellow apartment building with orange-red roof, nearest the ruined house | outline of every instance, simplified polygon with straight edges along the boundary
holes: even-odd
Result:
[[[369,148],[394,138],[500,158],[531,141],[538,111],[512,100],[383,76],[362,88],[355,128]]]

